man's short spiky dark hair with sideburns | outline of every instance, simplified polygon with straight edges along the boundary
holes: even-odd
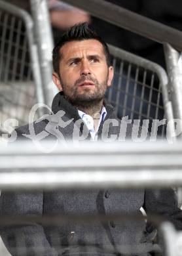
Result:
[[[88,24],[86,22],[76,24],[75,26],[69,28],[67,32],[65,32],[61,37],[58,43],[56,43],[56,46],[54,47],[52,51],[52,64],[54,71],[59,74],[59,64],[60,64],[60,49],[62,48],[65,43],[68,43],[70,41],[82,41],[82,40],[88,40],[88,39],[96,39],[100,41],[100,43],[103,45],[103,51],[105,54],[107,66],[111,65],[111,57],[109,54],[109,49],[106,45],[106,43],[97,35],[97,33],[88,27]]]

